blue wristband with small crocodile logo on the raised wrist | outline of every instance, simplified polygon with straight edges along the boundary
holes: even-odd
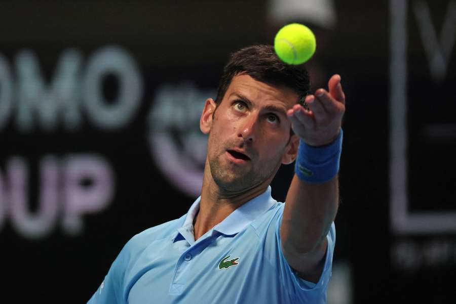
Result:
[[[308,183],[324,183],[339,171],[343,132],[329,145],[312,147],[300,140],[294,171],[298,178]]]

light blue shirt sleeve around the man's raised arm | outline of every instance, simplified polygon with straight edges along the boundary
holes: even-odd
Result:
[[[326,303],[326,288],[329,279],[331,278],[332,256],[335,244],[335,226],[331,223],[331,227],[326,236],[328,246],[325,254],[325,264],[322,274],[318,282],[312,283],[300,278],[287,263],[282,252],[280,239],[280,224],[282,223],[282,214],[280,213],[277,221],[273,221],[275,227],[275,251],[276,251],[276,267],[280,272],[284,288],[288,290],[289,295],[297,303]],[[271,223],[271,224],[273,224]]]

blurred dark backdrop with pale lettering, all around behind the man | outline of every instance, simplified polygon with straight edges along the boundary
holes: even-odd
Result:
[[[183,215],[229,54],[290,22],[316,34],[312,90],[338,73],[347,96],[328,303],[452,299],[456,0],[2,4],[5,298],[86,302],[133,235]]]

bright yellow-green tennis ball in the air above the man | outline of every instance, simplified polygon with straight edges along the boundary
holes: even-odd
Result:
[[[314,33],[305,25],[291,23],[282,27],[274,38],[274,50],[288,64],[301,64],[315,53]]]

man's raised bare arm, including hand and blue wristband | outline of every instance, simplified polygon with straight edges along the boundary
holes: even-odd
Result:
[[[288,264],[317,283],[324,266],[326,236],[338,206],[337,171],[342,141],[345,94],[340,76],[306,97],[309,110],[294,105],[287,115],[300,138],[295,175],[285,200],[280,236]]]

